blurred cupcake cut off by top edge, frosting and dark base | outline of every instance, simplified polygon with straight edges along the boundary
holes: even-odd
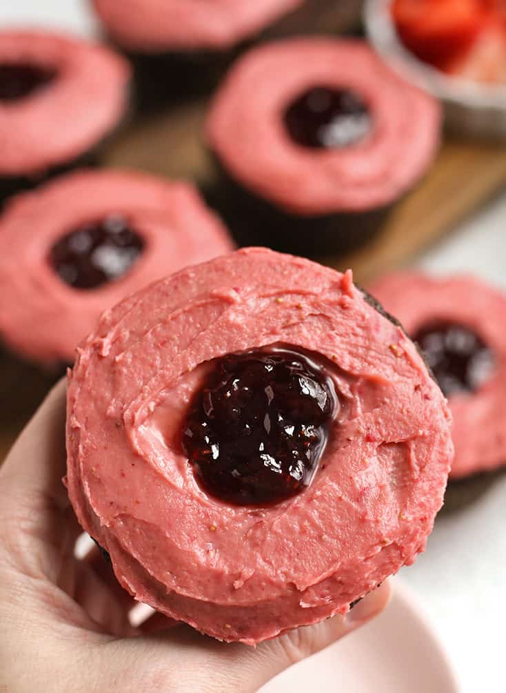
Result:
[[[109,35],[136,67],[141,107],[212,89],[242,46],[258,37],[339,26],[357,9],[345,0],[93,0]],[[332,14],[329,15],[329,10]]]

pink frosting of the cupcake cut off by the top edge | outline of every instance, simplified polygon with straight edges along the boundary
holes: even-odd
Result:
[[[93,0],[109,33],[140,51],[228,49],[305,0]]]

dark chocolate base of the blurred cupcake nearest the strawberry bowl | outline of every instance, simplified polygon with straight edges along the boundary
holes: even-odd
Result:
[[[383,227],[393,204],[359,212],[300,216],[260,198],[233,180],[217,162],[219,180],[204,195],[240,246],[265,247],[311,258],[359,247]]]

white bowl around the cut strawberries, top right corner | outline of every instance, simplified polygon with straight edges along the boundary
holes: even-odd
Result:
[[[506,85],[450,77],[418,60],[399,40],[391,5],[392,0],[365,1],[365,28],[383,59],[442,101],[450,130],[473,137],[506,139]]]

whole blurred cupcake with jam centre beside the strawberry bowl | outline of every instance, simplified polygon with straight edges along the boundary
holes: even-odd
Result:
[[[361,41],[255,49],[215,96],[210,199],[242,243],[343,252],[376,232],[433,161],[440,109]]]

